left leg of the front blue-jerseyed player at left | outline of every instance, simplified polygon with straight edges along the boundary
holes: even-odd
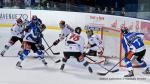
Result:
[[[22,67],[21,63],[25,59],[26,56],[30,53],[31,44],[29,42],[23,42],[23,52],[19,54],[19,61],[17,62],[17,67]]]

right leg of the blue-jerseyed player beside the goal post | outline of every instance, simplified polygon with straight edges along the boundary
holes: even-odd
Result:
[[[145,52],[146,50],[143,50],[139,53],[135,53],[137,57],[136,61],[139,63],[140,67],[143,67],[144,68],[144,72],[143,74],[150,74],[150,69],[149,67],[147,66],[146,62],[144,61],[143,57],[145,55]]]

